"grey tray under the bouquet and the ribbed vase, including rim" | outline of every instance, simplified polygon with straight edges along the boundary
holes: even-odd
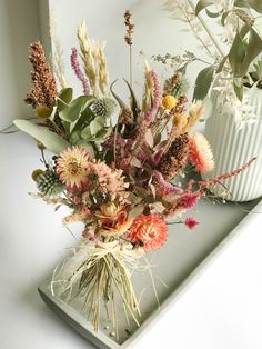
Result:
[[[150,273],[135,272],[132,282],[137,295],[141,295],[141,327],[137,328],[133,323],[128,328],[124,315],[120,311],[119,339],[112,337],[112,328],[105,315],[102,315],[100,330],[95,332],[80,307],[70,306],[53,297],[50,289],[51,277],[39,287],[39,292],[56,313],[98,348],[130,348],[256,212],[262,212],[261,199],[226,205],[213,205],[202,199],[196,209],[187,215],[200,221],[195,230],[187,230],[182,225],[170,226],[167,245],[148,256],[159,303]]]

